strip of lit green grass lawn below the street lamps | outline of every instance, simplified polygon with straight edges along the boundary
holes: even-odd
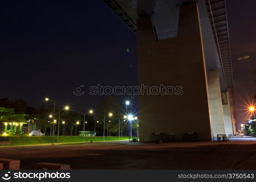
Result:
[[[85,142],[99,142],[103,141],[103,137],[84,137]],[[128,140],[128,137],[120,137],[120,140]],[[105,137],[105,141],[115,141],[118,140],[118,137]],[[32,136],[29,137],[28,135],[18,135],[18,136],[7,136],[7,137],[0,137],[0,142],[10,142],[8,146],[13,145],[35,145],[35,144],[42,144],[42,143],[52,143],[52,136],[42,136],[36,137]],[[59,143],[72,143],[72,142],[83,142],[83,137],[76,137],[76,136],[59,136]],[[54,136],[54,143],[57,143],[57,136]],[[0,145],[4,146],[4,145]]]

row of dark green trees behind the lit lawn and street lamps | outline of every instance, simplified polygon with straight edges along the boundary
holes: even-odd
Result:
[[[65,127],[65,135],[75,135],[75,128],[77,131],[83,131],[84,115],[78,112],[68,110],[61,110],[62,108],[55,109],[55,119],[60,122],[60,135],[63,135],[63,127]],[[59,121],[59,111],[60,121]],[[86,111],[85,111],[86,112]],[[110,118],[108,113],[112,112],[113,116]],[[49,118],[49,115],[53,115],[53,107],[47,103],[41,104],[38,108],[29,106],[25,99],[10,100],[8,98],[0,99],[0,122],[26,122],[27,120],[34,119],[38,123],[38,129],[41,132],[46,132],[46,135],[50,134],[51,125],[53,124],[53,118]],[[85,131],[94,132],[98,136],[103,135],[103,120],[105,117],[105,136],[107,136],[107,126],[109,136],[118,136],[119,120],[120,120],[120,135],[121,130],[123,136],[128,135],[128,122],[123,119],[124,112],[122,104],[118,103],[117,98],[110,96],[102,100],[93,114],[85,114]],[[109,122],[109,120],[111,122]],[[62,122],[65,122],[63,125]],[[98,121],[98,122],[97,122]],[[79,122],[79,124],[76,124]],[[58,124],[55,125],[56,129]],[[132,128],[136,128],[137,123],[132,124]],[[4,125],[0,125],[0,131],[4,130]],[[57,134],[55,130],[55,134]],[[133,134],[136,134],[136,130],[133,130]]]

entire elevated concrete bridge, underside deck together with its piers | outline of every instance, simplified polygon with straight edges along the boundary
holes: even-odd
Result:
[[[224,0],[104,0],[137,35],[138,83],[182,86],[139,95],[140,141],[152,133],[234,134],[233,78]],[[186,2],[186,3],[184,3]]]

